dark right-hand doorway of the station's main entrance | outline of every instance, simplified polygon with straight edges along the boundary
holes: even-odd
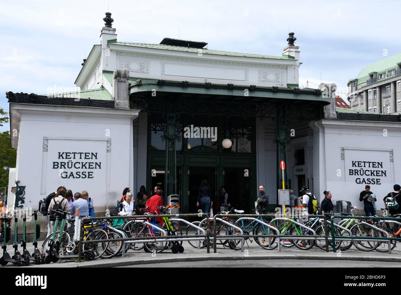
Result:
[[[224,168],[224,186],[228,193],[231,207],[252,213],[251,209],[251,177],[250,168]],[[221,189],[219,187],[219,196]]]

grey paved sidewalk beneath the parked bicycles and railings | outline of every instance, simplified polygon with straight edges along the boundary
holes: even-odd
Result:
[[[41,248],[43,242],[39,242]],[[249,247],[248,247],[249,245]],[[296,247],[284,248],[281,247],[281,252],[277,248],[274,250],[264,250],[253,241],[248,245],[245,244],[245,251],[235,251],[222,245],[217,245],[217,253],[213,253],[213,248],[210,248],[210,253],[207,249],[195,249],[188,242],[183,242],[185,248],[183,253],[174,254],[171,250],[164,250],[161,253],[146,253],[144,250],[134,251],[129,250],[126,252],[126,257],[114,257],[111,259],[97,259],[87,262],[74,262],[73,260],[63,260],[59,263],[32,264],[30,267],[118,267],[128,265],[140,264],[156,264],[162,262],[184,262],[184,261],[207,261],[207,260],[259,260],[259,259],[308,259],[308,260],[354,260],[354,261],[381,261],[381,262],[401,262],[401,246],[395,247],[391,254],[381,253],[377,251],[363,252],[354,247],[346,251],[339,251],[337,253],[324,252],[319,248],[312,248],[310,250],[301,250]],[[398,243],[397,243],[398,245]],[[12,247],[8,247],[8,252],[12,253]],[[28,250],[32,252],[33,246],[31,243],[28,245]],[[6,267],[13,267],[7,264]]]

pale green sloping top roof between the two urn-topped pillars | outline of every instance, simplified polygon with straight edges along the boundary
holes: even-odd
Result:
[[[260,55],[260,54],[252,54],[252,53],[238,53],[238,52],[230,52],[230,51],[220,51],[213,49],[205,49],[205,48],[188,48],[184,46],[175,46],[175,45],[166,45],[166,44],[148,44],[148,43],[132,43],[132,42],[113,42],[109,44],[116,45],[127,45],[127,46],[136,46],[136,47],[145,47],[145,48],[154,48],[154,49],[166,49],[166,50],[175,50],[175,51],[186,51],[186,52],[202,52],[206,54],[217,54],[217,55],[229,55],[229,56],[242,56],[242,57],[260,57],[260,58],[274,58],[274,59],[294,59],[293,57],[288,58],[286,56],[272,56],[272,55]]]

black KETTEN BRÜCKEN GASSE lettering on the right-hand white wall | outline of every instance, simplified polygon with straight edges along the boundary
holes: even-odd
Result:
[[[381,161],[350,161],[348,175],[357,184],[382,184],[382,178],[387,177],[387,170]]]

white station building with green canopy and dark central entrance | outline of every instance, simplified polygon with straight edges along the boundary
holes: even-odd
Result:
[[[181,213],[196,213],[207,179],[214,200],[225,185],[230,203],[251,213],[259,185],[277,204],[281,160],[286,188],[307,185],[319,203],[328,190],[363,208],[366,184],[381,199],[401,183],[400,115],[335,108],[335,84],[300,88],[294,33],[279,56],[169,38],[130,43],[117,39],[110,15],[75,80],[81,91],[7,92],[17,149],[9,206],[37,208],[64,185],[88,191],[100,214],[125,187],[136,197],[160,185],[180,196]],[[201,138],[196,128],[217,134]]]

